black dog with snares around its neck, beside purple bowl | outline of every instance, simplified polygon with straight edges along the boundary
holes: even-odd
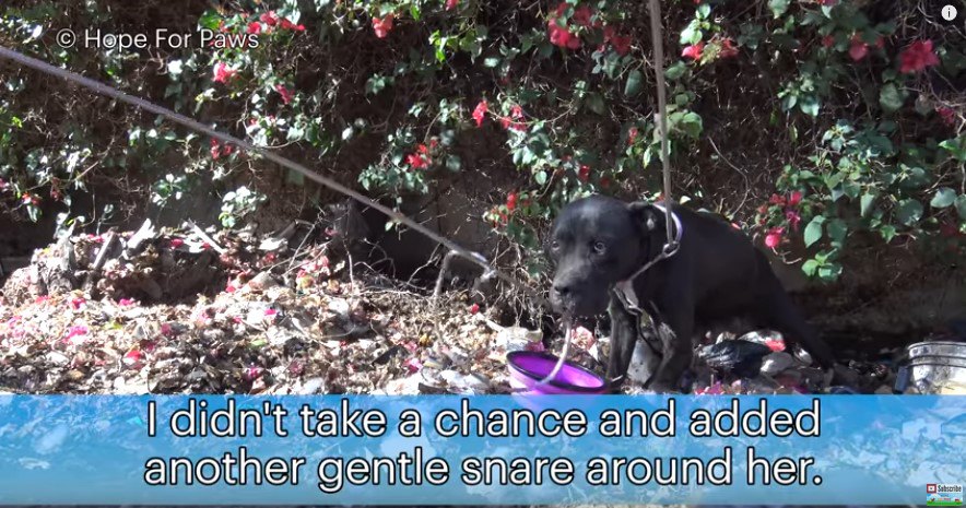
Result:
[[[823,367],[833,367],[830,348],[805,323],[768,259],[745,235],[710,213],[680,205],[673,212],[680,220],[679,250],[629,282],[668,241],[661,209],[594,196],[565,206],[554,223],[547,245],[556,264],[551,303],[557,312],[572,316],[609,311],[608,379],[614,389],[624,380],[638,336],[639,322],[627,308],[627,296],[636,296],[662,343],[660,365],[647,383],[650,390],[680,391],[694,334],[732,317],[750,317],[780,331]],[[622,282],[633,293],[616,291]]]

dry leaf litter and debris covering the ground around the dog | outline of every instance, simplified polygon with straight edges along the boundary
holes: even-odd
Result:
[[[0,291],[0,391],[507,393],[508,352],[563,345],[494,322],[466,292],[435,299],[349,270],[297,226],[259,238],[145,222],[38,250]],[[638,382],[653,368],[641,342]],[[569,359],[603,371],[608,350],[578,328]],[[695,359],[695,393],[892,393],[896,380],[892,361],[851,362],[833,386],[767,331],[722,334]]]

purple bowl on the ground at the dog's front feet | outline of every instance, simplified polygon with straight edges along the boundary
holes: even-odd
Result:
[[[506,355],[510,368],[510,385],[520,390],[537,394],[586,394],[604,393],[606,382],[590,370],[564,362],[556,377],[545,385],[538,386],[556,366],[556,356],[533,351],[514,351]]]

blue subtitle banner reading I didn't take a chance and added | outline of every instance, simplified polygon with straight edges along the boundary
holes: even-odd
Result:
[[[926,505],[964,450],[956,395],[0,395],[0,505]]]

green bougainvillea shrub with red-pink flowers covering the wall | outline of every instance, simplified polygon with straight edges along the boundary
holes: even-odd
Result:
[[[726,215],[766,248],[804,245],[802,269],[823,280],[839,276],[857,235],[881,245],[941,239],[962,253],[961,28],[908,2],[660,3],[675,198]],[[533,273],[542,232],[564,203],[591,192],[660,197],[646,2],[185,5],[4,2],[0,40],[397,204],[443,179],[498,173],[513,185],[488,189],[479,216],[520,247]],[[63,48],[64,27],[222,37]],[[125,191],[156,205],[214,185],[226,227],[272,201],[249,180],[280,169],[258,157],[14,66],[0,70],[4,213],[36,220],[56,210],[62,223],[91,223],[71,200],[132,179]],[[496,162],[468,165],[474,150]]]

